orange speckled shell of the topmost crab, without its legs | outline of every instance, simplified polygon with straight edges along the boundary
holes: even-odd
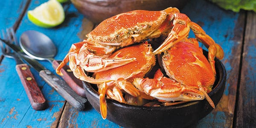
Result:
[[[102,21],[87,34],[87,41],[111,46],[125,47],[148,38],[166,19],[165,11],[135,10]]]

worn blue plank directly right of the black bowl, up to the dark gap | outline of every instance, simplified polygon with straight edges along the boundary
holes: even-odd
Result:
[[[181,12],[198,23],[224,49],[222,60],[227,70],[224,95],[216,108],[201,119],[198,128],[230,128],[236,104],[239,62],[244,31],[244,12],[234,13],[220,9],[207,0],[191,0]]]

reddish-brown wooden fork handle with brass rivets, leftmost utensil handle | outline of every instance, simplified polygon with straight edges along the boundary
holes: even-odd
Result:
[[[47,108],[47,102],[27,64],[17,64],[16,71],[26,91],[30,104],[35,110]]]

